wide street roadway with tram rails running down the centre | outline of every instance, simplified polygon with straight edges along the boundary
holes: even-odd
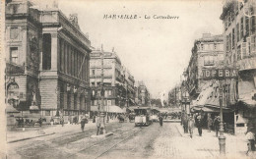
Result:
[[[162,135],[180,137],[175,125],[160,127],[154,123],[140,128],[134,127],[134,123],[114,122],[107,125],[107,131],[113,135],[99,138],[91,137],[96,133],[95,127],[81,132],[80,126],[66,125],[70,131],[9,143],[8,158],[146,158],[162,152],[176,155],[173,148],[172,152],[164,152],[164,147],[160,147]]]

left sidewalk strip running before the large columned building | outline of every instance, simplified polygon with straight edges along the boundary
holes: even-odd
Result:
[[[117,120],[109,120],[109,123],[113,123],[113,122],[117,122]],[[93,123],[93,121],[90,120],[89,123],[86,124],[85,129],[94,128],[94,127],[96,127],[96,123]],[[80,124],[79,125],[65,124],[64,127],[62,127],[61,125],[54,125],[51,127],[49,125],[48,128],[45,128],[39,131],[7,132],[7,143],[22,141],[22,140],[45,136],[45,135],[51,135],[51,134],[60,133],[60,132],[81,132]]]

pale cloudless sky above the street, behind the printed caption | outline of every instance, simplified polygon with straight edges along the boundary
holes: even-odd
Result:
[[[188,66],[194,40],[202,33],[223,33],[222,1],[83,1],[59,0],[69,17],[78,14],[81,30],[92,46],[115,52],[136,80],[143,80],[153,98],[179,83]],[[104,15],[137,15],[136,20],[105,20]],[[145,15],[177,20],[145,19]]]

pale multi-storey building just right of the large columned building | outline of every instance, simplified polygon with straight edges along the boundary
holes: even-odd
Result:
[[[92,106],[100,102],[101,89],[101,51],[91,53],[90,83],[92,87]],[[103,88],[105,106],[125,106],[125,86],[122,64],[115,52],[103,52]],[[97,109],[95,109],[97,111]]]

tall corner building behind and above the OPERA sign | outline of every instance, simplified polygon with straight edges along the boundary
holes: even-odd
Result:
[[[202,38],[195,40],[185,77],[187,91],[192,100],[197,98],[202,87],[208,82],[202,79],[202,71],[221,67],[223,63],[224,38],[222,34],[203,33]]]

